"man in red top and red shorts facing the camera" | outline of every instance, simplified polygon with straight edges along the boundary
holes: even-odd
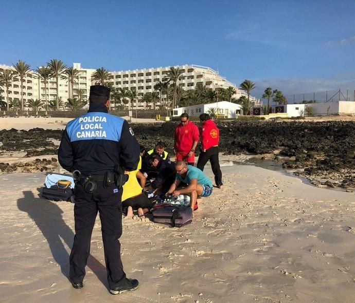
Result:
[[[200,139],[199,128],[189,121],[189,115],[184,112],[180,116],[181,123],[175,127],[174,150],[176,161],[185,161],[193,165],[195,161],[195,148]]]

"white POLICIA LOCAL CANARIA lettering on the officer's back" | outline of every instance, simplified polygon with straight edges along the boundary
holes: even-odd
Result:
[[[94,138],[101,137],[106,138],[106,131],[102,130],[101,123],[107,123],[106,117],[102,116],[89,116],[89,117],[80,117],[79,118],[79,129],[82,131],[77,131],[76,137],[81,138]],[[99,130],[95,130],[99,129]]]

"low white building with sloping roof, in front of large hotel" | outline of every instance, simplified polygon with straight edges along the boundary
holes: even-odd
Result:
[[[216,112],[218,117],[224,118],[236,118],[237,115],[243,113],[242,106],[240,104],[221,101],[215,103],[206,103],[206,104],[196,104],[184,107],[178,107],[174,110],[170,110],[170,116],[180,116],[182,113],[186,112],[190,117],[191,116],[200,116],[201,113],[209,113],[210,111]]]

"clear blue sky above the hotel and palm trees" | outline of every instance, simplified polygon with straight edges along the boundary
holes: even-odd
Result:
[[[198,64],[287,94],[355,89],[353,0],[0,0],[0,64]]]

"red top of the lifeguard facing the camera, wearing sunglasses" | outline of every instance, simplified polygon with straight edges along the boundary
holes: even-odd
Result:
[[[180,154],[188,154],[194,141],[199,141],[199,128],[189,121],[186,126],[181,123],[175,127],[174,131],[175,150]]]

